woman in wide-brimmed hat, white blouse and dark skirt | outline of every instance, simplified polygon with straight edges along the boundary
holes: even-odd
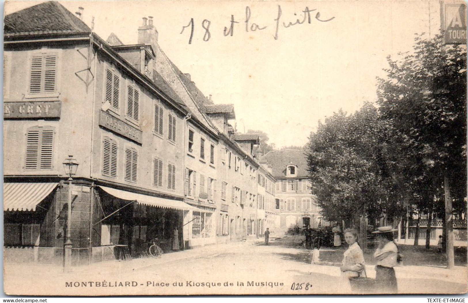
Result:
[[[392,226],[379,227],[372,233],[379,234],[379,246],[374,252],[377,260],[375,266],[375,280],[380,284],[382,293],[395,294],[397,292],[395,269],[398,264],[398,247],[393,240]]]

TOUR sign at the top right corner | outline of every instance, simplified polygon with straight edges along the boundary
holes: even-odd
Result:
[[[442,24],[445,44],[467,43],[467,16],[464,3],[445,4]]]

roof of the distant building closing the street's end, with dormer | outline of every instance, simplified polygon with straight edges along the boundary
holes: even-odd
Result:
[[[261,162],[267,161],[273,166],[272,174],[276,179],[286,178],[286,167],[288,165],[297,166],[296,178],[307,178],[307,158],[303,150],[283,149],[279,151],[269,151],[260,158]]]

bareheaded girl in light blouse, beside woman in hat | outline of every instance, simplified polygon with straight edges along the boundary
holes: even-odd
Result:
[[[358,277],[364,270],[364,254],[358,244],[358,231],[353,228],[344,230],[344,240],[349,247],[343,254],[343,265],[340,267],[344,279],[343,289],[351,291],[349,279]]]

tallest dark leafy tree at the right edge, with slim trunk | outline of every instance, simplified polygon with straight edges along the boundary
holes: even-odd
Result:
[[[383,117],[402,134],[409,184],[432,184],[418,193],[420,209],[431,208],[441,184],[446,205],[466,196],[466,46],[442,42],[441,35],[417,37],[412,52],[399,60],[388,57],[377,92]],[[451,212],[447,206],[449,220]],[[451,267],[453,247],[447,247],[447,256]]]

